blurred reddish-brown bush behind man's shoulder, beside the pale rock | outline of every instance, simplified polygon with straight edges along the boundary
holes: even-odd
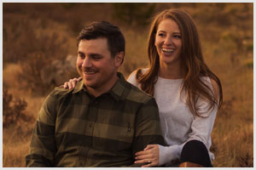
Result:
[[[20,81],[26,82],[26,88],[32,90],[33,94],[44,95],[53,88],[49,87],[49,84],[42,83],[41,71],[54,59],[65,59],[67,55],[67,50],[63,46],[65,42],[58,42],[57,39],[56,34],[38,37],[36,40],[38,50],[26,54],[26,59],[20,63],[22,69]]]

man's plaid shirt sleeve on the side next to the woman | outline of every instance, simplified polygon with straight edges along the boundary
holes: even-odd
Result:
[[[148,144],[162,144],[164,139],[160,129],[158,106],[151,98],[137,112],[135,123],[135,138],[132,144],[132,156],[135,158],[137,151],[143,150]]]

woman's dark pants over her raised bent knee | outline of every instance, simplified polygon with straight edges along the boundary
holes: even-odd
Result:
[[[207,147],[198,140],[190,140],[183,146],[180,161],[189,161],[200,164],[203,167],[212,167]]]

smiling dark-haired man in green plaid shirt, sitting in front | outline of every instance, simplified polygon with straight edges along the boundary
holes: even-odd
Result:
[[[163,139],[155,100],[118,72],[123,34],[93,22],[79,33],[78,48],[82,81],[72,90],[55,88],[44,101],[27,167],[140,167],[135,153]]]

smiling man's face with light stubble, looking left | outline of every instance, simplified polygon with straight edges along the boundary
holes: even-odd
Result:
[[[108,91],[112,88],[120,65],[117,58],[111,57],[107,38],[79,42],[77,70],[89,91]]]

